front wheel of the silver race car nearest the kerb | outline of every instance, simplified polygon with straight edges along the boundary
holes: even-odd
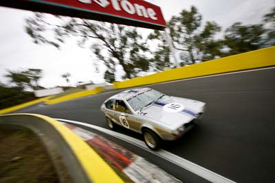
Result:
[[[157,150],[162,146],[162,139],[152,130],[142,130],[145,144],[152,150]]]

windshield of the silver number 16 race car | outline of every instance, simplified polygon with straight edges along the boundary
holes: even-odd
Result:
[[[128,99],[127,101],[131,108],[137,111],[147,106],[148,103],[152,103],[153,101],[156,101],[157,99],[161,98],[162,95],[162,93],[159,93],[156,90],[148,90],[147,92],[141,93],[140,95]]]

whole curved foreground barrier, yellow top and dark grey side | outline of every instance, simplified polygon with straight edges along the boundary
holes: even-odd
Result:
[[[61,155],[73,182],[123,182],[96,151],[65,125],[50,117],[39,114],[0,115],[0,125],[23,126],[34,131],[52,158],[56,151]]]

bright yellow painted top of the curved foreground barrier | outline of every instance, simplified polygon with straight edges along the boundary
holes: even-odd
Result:
[[[71,147],[72,151],[74,152],[76,158],[85,170],[85,173],[87,173],[91,182],[123,182],[123,180],[121,180],[121,178],[115,173],[115,171],[113,171],[113,169],[109,167],[107,162],[105,162],[96,153],[96,151],[94,151],[94,149],[91,149],[91,147],[89,147],[89,145],[85,143],[82,138],[74,134],[72,130],[69,130],[69,128],[65,127],[65,125],[59,123],[58,121],[40,114],[7,114],[2,115],[2,117],[22,115],[36,117],[38,119],[43,119],[45,123],[50,123],[61,134],[69,147]]]

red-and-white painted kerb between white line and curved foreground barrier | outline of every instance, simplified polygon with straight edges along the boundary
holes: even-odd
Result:
[[[133,182],[181,182],[144,158],[98,134],[68,123],[63,124],[83,138],[83,141],[87,142],[93,149],[100,152],[100,156],[108,160],[113,167],[127,175]]]

